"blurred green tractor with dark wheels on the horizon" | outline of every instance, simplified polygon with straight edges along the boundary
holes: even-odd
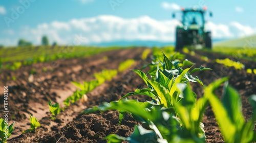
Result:
[[[206,7],[203,10],[197,10],[196,8],[181,8],[181,10],[182,25],[176,28],[176,50],[182,50],[183,46],[211,49],[211,32],[206,31],[204,27]],[[212,13],[210,12],[209,15],[211,17]],[[175,13],[173,18],[175,18]]]

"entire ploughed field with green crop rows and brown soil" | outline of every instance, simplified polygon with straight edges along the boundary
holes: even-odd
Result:
[[[8,125],[15,122],[6,142],[256,141],[255,54],[42,46],[0,55],[0,98],[8,86]],[[218,63],[226,58],[231,65]]]

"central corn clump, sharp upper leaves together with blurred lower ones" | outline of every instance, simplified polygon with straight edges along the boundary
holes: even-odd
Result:
[[[205,142],[204,125],[201,123],[203,112],[208,104],[207,99],[201,98],[196,102],[196,94],[191,91],[189,81],[202,82],[197,77],[192,77],[191,72],[206,70],[195,68],[190,73],[190,68],[182,69],[181,66],[193,65],[184,60],[170,61],[165,55],[161,68],[150,73],[152,79],[140,70],[135,71],[147,84],[148,88],[136,89],[135,92],[126,94],[122,99],[135,94],[150,96],[153,102],[138,102],[136,100],[119,100],[104,103],[88,111],[118,110],[119,125],[126,113],[130,113],[136,121],[143,122],[150,129],[141,126],[135,127],[135,132],[130,137],[109,135],[105,139],[109,142]],[[156,71],[155,71],[156,70]],[[149,139],[152,138],[152,139]]]

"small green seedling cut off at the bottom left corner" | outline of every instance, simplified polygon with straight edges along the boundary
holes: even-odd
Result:
[[[12,135],[13,126],[15,122],[13,122],[10,126],[8,123],[1,117],[0,118],[0,142],[6,143],[6,140]]]

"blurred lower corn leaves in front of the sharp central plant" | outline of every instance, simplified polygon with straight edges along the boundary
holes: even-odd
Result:
[[[200,98],[196,103],[195,94],[189,84],[180,83],[177,86],[183,96],[182,102],[177,104],[180,117],[175,112],[153,102],[138,102],[137,100],[119,100],[104,103],[93,107],[87,113],[98,110],[118,110],[120,121],[124,113],[130,113],[136,121],[143,122],[147,129],[140,125],[130,137],[108,135],[104,139],[108,142],[121,142],[123,140],[135,142],[205,142],[204,125],[201,123],[203,113],[208,104],[206,98]],[[149,130],[148,130],[149,129]]]

